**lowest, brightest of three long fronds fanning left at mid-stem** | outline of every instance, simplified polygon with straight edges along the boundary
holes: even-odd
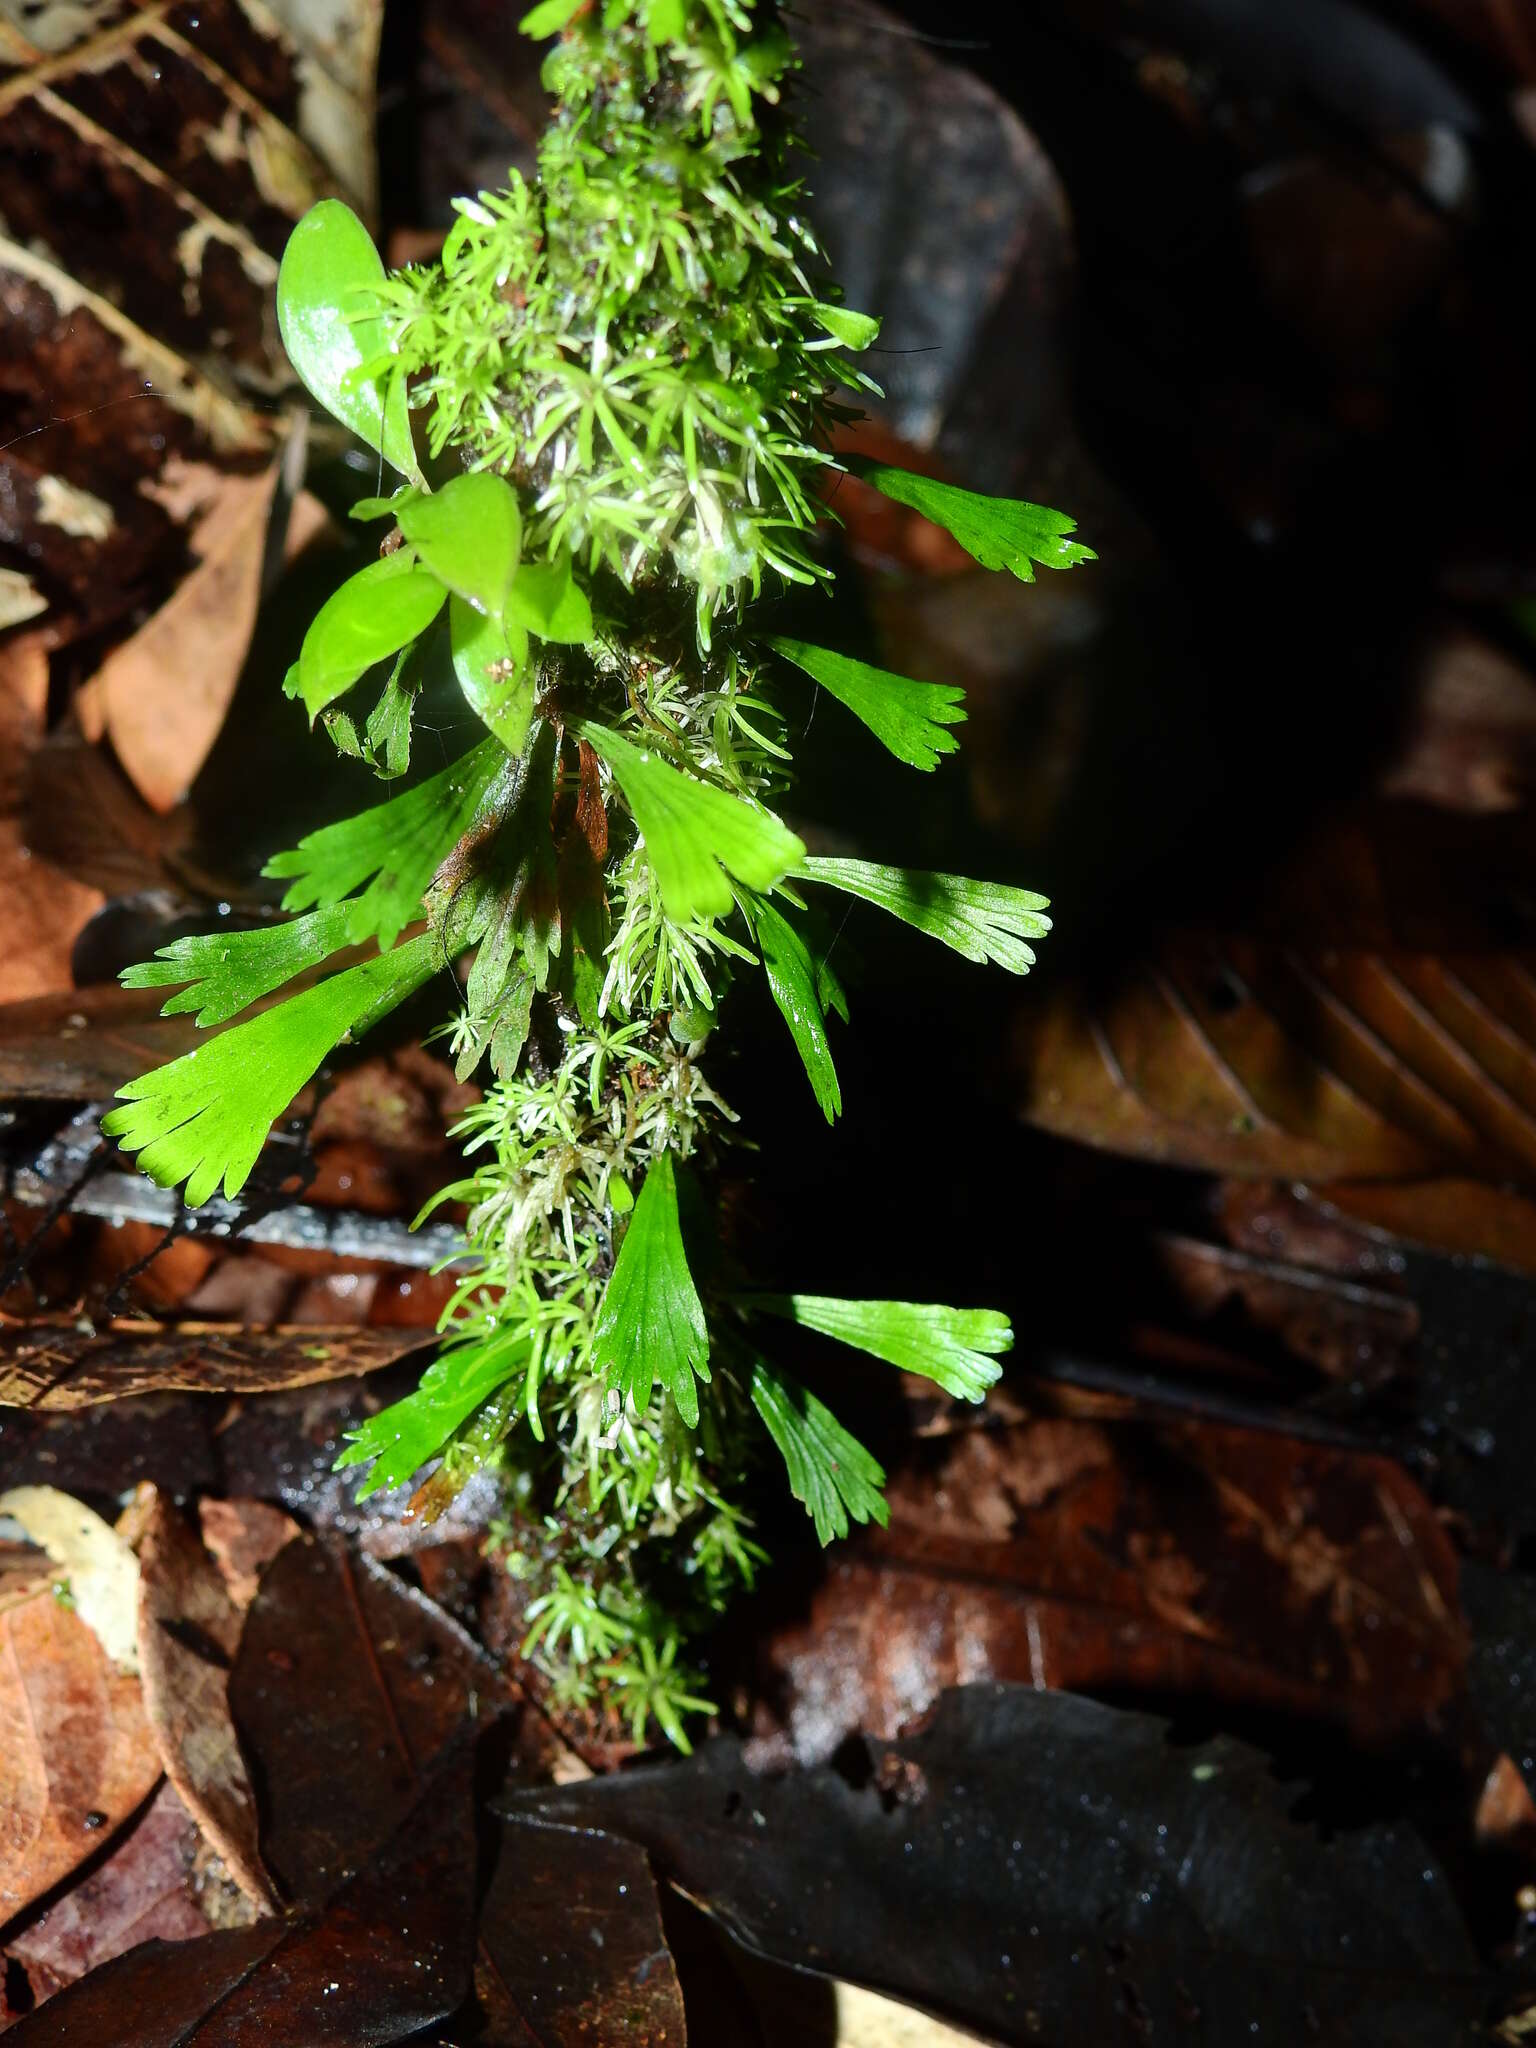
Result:
[[[436,965],[436,940],[424,932],[348,967],[119,1087],[121,1108],[102,1116],[102,1130],[162,1188],[186,1182],[193,1208],[219,1182],[236,1196],[272,1122],[332,1047],[401,1004]]]

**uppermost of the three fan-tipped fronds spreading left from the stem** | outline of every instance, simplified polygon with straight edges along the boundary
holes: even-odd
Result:
[[[422,915],[432,877],[459,840],[494,805],[512,764],[494,739],[483,739],[430,782],[307,834],[297,848],[274,854],[264,872],[289,879],[283,909],[326,909],[348,903],[348,938],[379,938],[393,946]]]

